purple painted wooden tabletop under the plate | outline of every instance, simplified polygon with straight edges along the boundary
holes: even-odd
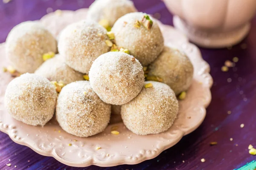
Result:
[[[90,6],[93,0],[12,0],[0,1],[0,42],[4,42],[13,26],[26,20],[38,20],[47,8],[76,10]],[[172,15],[160,0],[134,0],[139,11],[159,13],[164,24],[172,25]],[[247,44],[246,49],[241,44]],[[0,132],[0,170],[231,170],[256,159],[248,153],[248,145],[256,147],[256,18],[248,37],[231,49],[201,48],[204,59],[211,66],[214,79],[212,102],[207,108],[203,124],[183,137],[174,147],[155,159],[136,165],[85,168],[68,167],[52,157],[41,156],[28,147],[12,142]],[[221,66],[229,59],[239,62],[228,72]],[[0,61],[1,62],[1,61]],[[227,79],[231,78],[231,82]],[[229,79],[230,80],[230,79]],[[227,111],[231,111],[228,114]],[[240,125],[244,124],[241,128]],[[233,138],[233,141],[230,141]],[[210,146],[210,142],[218,142]],[[206,161],[203,163],[201,159]],[[10,160],[10,161],[9,161]],[[11,167],[6,164],[11,163]]]

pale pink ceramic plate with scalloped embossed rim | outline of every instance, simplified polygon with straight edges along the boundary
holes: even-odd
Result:
[[[62,11],[60,15],[47,14],[41,22],[57,36],[67,24],[85,18],[86,11],[87,9],[80,9]],[[7,73],[0,73],[0,130],[9,134],[18,144],[26,145],[41,155],[52,156],[64,164],[75,167],[138,164],[172,147],[182,136],[191,133],[203,122],[206,115],[205,108],[211,101],[212,77],[209,75],[209,65],[202,59],[198,48],[171,26],[159,24],[166,45],[174,45],[185,51],[195,68],[192,85],[186,99],[179,102],[178,117],[169,130],[155,135],[138,136],[119,122],[109,125],[98,135],[79,138],[64,132],[55,119],[44,127],[23,124],[12,119],[4,108],[6,86],[13,79]],[[0,67],[8,65],[4,51],[3,43],[0,44]],[[113,126],[118,126],[119,135],[111,134]],[[100,149],[96,150],[96,147]]]

